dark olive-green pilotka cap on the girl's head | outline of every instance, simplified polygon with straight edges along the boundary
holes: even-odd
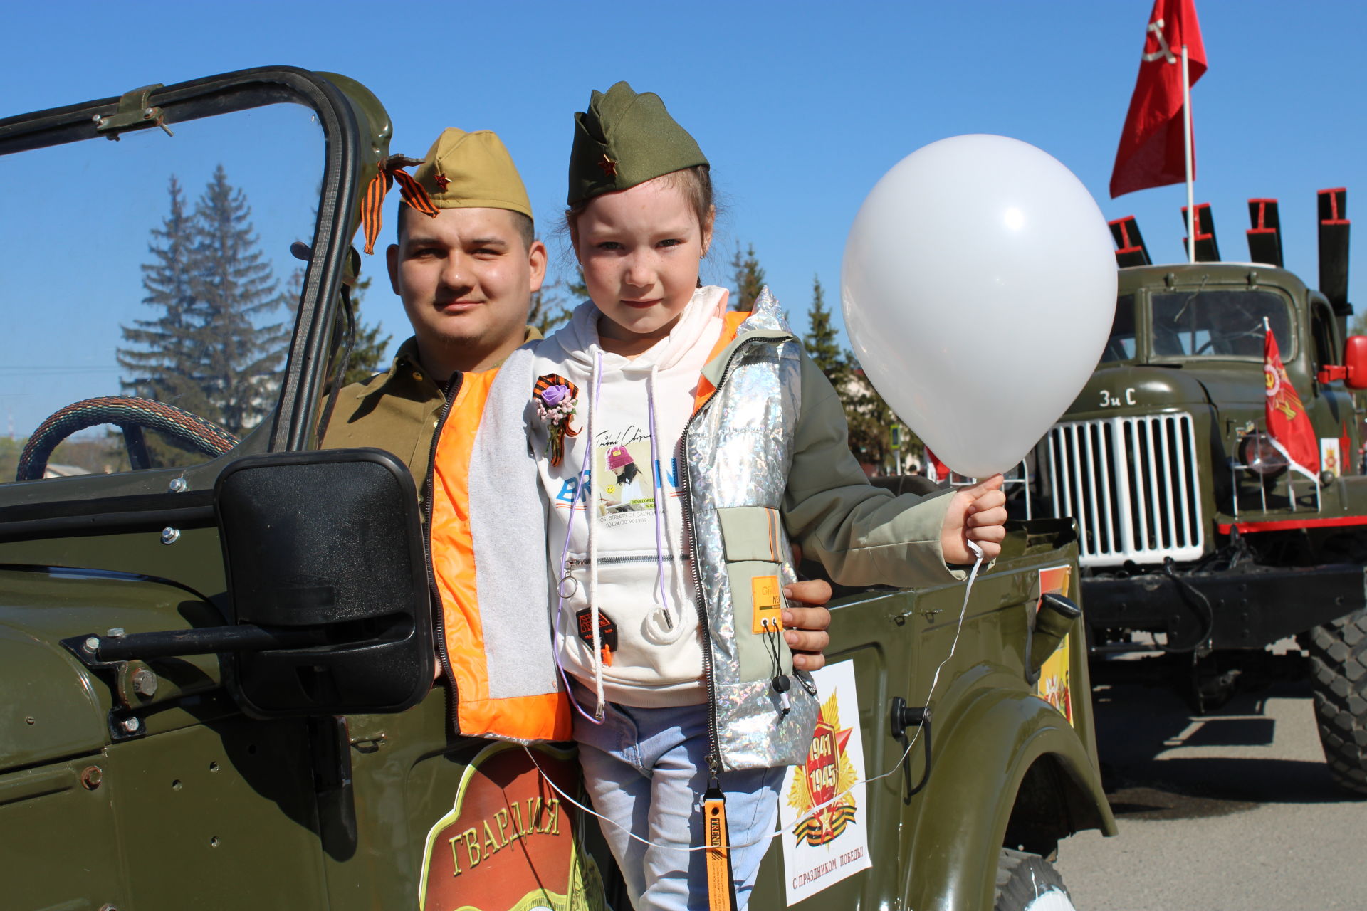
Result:
[[[653,92],[637,94],[618,82],[595,92],[589,109],[574,115],[569,205],[604,193],[630,190],[671,173],[707,165],[697,142],[664,109]]]

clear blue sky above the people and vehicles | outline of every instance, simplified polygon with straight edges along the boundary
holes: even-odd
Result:
[[[802,329],[813,275],[837,303],[845,235],[867,191],[905,154],[954,134],[1040,146],[1107,219],[1136,214],[1155,260],[1180,258],[1181,186],[1120,199],[1106,188],[1150,10],[1148,0],[12,4],[0,113],[264,64],[344,72],[387,105],[395,152],[421,156],[446,126],[496,130],[548,227],[563,202],[571,113],[591,89],[627,79],[663,96],[726,194],[720,255],[704,277],[725,284],[735,243],[753,244]],[[1210,70],[1193,92],[1196,198],[1214,206],[1225,258],[1247,257],[1244,201],[1277,197],[1288,265],[1315,284],[1315,190],[1346,186],[1359,217],[1356,292],[1367,268],[1367,71],[1353,60],[1367,4],[1197,0],[1197,12]],[[369,264],[383,272],[380,257]],[[406,335],[383,279],[365,311],[395,341]]]

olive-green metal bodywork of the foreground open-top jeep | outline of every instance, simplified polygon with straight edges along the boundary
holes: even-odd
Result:
[[[227,87],[232,75],[221,78]],[[383,107],[344,78],[279,78],[340,97],[329,116],[346,135],[329,135],[329,156],[339,157],[323,199],[354,199],[387,154]],[[3,130],[0,122],[0,142]],[[276,421],[189,470],[0,485],[0,856],[14,871],[5,907],[420,907],[429,832],[487,746],[448,733],[444,688],[402,713],[344,717],[344,727],[260,721],[236,707],[215,656],[93,672],[62,645],[113,628],[215,627],[231,616],[212,516],[190,515],[172,544],[163,544],[159,516],[186,519],[185,504],[208,503],[232,459],[316,445],[316,393],[340,348],[339,283],[355,213],[324,206],[319,225]],[[183,493],[168,492],[176,478]],[[86,516],[87,503],[105,505]],[[130,503],[146,518],[107,520]],[[44,524],[74,507],[87,526]],[[827,654],[854,662],[867,773],[893,773],[867,789],[874,869],[805,907],[977,908],[991,901],[1009,833],[1029,830],[1039,844],[1081,828],[1114,833],[1095,762],[1083,624],[1069,653],[1073,724],[1027,682],[1039,570],[1057,565],[1073,567],[1076,598],[1070,526],[1033,523],[1013,530],[966,611],[962,585],[833,602]],[[932,769],[909,800],[904,750],[889,731],[894,697],[932,710]],[[118,720],[130,716],[141,727],[120,732]],[[339,758],[328,757],[329,744]],[[913,780],[925,773],[923,755],[915,743]],[[1042,763],[1058,770],[1043,791],[1032,772]],[[766,859],[750,903],[757,911],[786,906],[781,855],[775,845]]]

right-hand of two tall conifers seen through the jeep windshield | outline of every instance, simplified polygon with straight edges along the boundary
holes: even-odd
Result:
[[[279,283],[257,247],[252,208],[220,164],[195,206],[194,294],[204,324],[201,381],[209,418],[232,433],[254,426],[275,403],[290,326],[265,324],[284,303]]]

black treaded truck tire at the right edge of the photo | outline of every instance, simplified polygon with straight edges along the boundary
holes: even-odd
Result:
[[[1367,611],[1315,627],[1304,645],[1329,772],[1344,788],[1367,795]]]

